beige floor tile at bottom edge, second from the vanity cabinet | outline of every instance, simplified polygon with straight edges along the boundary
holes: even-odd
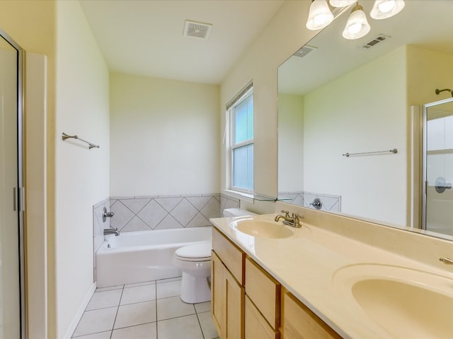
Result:
[[[157,323],[159,339],[203,339],[200,324],[195,314],[168,319]]]

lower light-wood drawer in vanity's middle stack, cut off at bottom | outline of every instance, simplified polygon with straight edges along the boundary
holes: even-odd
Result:
[[[280,332],[271,328],[255,305],[246,296],[246,335],[245,339],[279,339]]]

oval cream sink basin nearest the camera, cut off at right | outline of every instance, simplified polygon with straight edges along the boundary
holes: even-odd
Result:
[[[393,338],[452,338],[453,280],[397,266],[346,266],[333,285]]]

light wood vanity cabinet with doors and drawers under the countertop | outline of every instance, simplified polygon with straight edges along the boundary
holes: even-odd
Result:
[[[215,227],[211,297],[221,339],[341,338]]]

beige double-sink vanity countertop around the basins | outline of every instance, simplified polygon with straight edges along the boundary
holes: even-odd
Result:
[[[275,214],[253,218],[273,221],[274,217]],[[213,218],[210,221],[344,338],[401,338],[401,333],[395,335],[395,332],[387,331],[388,328],[379,326],[355,302],[348,281],[357,275],[367,278],[379,271],[392,275],[392,270],[398,271],[398,275],[408,273],[408,277],[411,273],[429,273],[425,274],[428,278],[448,280],[453,297],[453,274],[446,270],[304,222],[299,229],[278,222],[294,232],[291,237],[282,239],[252,237],[229,226],[231,220],[244,218],[251,217]],[[418,338],[432,336],[430,331],[423,333],[420,328],[416,333]]]

